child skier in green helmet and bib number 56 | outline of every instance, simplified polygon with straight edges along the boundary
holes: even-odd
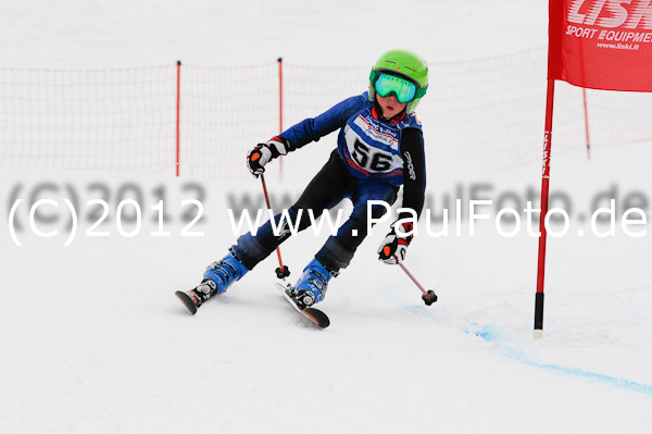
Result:
[[[292,226],[298,223],[299,231],[303,231],[311,224],[308,210],[312,210],[316,219],[344,198],[353,202],[349,219],[326,240],[297,281],[292,298],[300,309],[323,300],[330,278],[351,262],[367,235],[367,201],[383,200],[391,206],[403,185],[402,208],[413,210],[416,218],[421,214],[426,166],[422,125],[414,109],[427,87],[428,67],[421,57],[406,50],[388,51],[372,69],[368,92],[348,98],[318,116],[298,123],[267,142],[259,144],[247,156],[249,171],[258,177],[269,161],[339,129],[337,149],[288,210]],[[299,213],[299,210],[303,211]],[[378,219],[386,211],[383,206],[374,206],[371,216]],[[413,227],[404,220],[410,218],[414,215],[402,212],[391,225],[378,249],[380,261],[398,264],[405,259]],[[281,213],[274,219],[278,227]],[[397,231],[400,221],[403,221],[402,227]],[[286,221],[284,228],[287,225]],[[195,313],[206,300],[225,293],[269,256],[289,235],[287,230],[277,233],[278,236],[274,235],[268,221],[256,235],[248,233],[239,237],[222,260],[206,268],[201,284],[186,293],[191,299],[186,302],[188,309]]]

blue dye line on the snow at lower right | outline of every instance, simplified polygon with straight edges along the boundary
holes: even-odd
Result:
[[[560,367],[557,364],[543,363],[538,360],[534,360],[521,350],[517,350],[514,348],[509,348],[509,347],[501,345],[499,343],[500,336],[499,336],[498,332],[490,326],[485,325],[481,331],[475,332],[475,335],[484,340],[499,344],[500,348],[503,350],[503,352],[506,356],[518,359],[519,361],[523,361],[524,363],[529,364],[531,367],[547,369],[549,371],[554,371],[554,372],[559,372],[562,374],[566,374],[566,375],[575,375],[575,376],[580,376],[580,377],[585,377],[585,379],[597,380],[602,383],[611,384],[612,386],[617,386],[617,387],[626,388],[628,390],[634,390],[634,392],[639,392],[642,394],[652,395],[652,385],[649,385],[649,384],[637,383],[637,382],[632,382],[632,381],[625,380],[625,379],[618,379],[615,376],[610,376],[610,375],[599,374],[595,372],[585,371],[579,368]]]

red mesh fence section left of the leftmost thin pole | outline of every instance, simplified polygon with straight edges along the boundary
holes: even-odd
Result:
[[[176,69],[0,69],[0,165],[172,173]]]

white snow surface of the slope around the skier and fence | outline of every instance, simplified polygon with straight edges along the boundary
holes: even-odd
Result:
[[[369,64],[396,46],[459,61],[546,45],[547,2],[22,1],[3,5],[0,37],[0,64],[16,67],[240,64],[278,55]],[[600,238],[587,218],[591,200],[614,188],[620,200],[638,194],[649,208],[650,145],[602,148],[587,161],[582,149],[554,154],[553,140],[553,193],[567,195],[575,216],[568,235],[549,238],[539,340],[531,331],[537,239],[525,231],[501,237],[493,220],[479,222],[473,237],[464,221],[461,236],[454,226],[447,237],[422,233],[410,247],[406,266],[440,297],[431,307],[400,269],[376,261],[387,230],[378,225],[331,281],[321,305],[331,326],[317,331],[274,289],[274,257],[196,317],[173,295],[192,287],[233,244],[229,195],[260,194],[255,179],[199,181],[206,218],[193,230],[203,236],[180,236],[180,208],[173,207],[171,237],[149,235],[150,213],[133,238],[117,234],[112,219],[100,228],[108,238],[80,235],[63,247],[66,231],[48,239],[23,232],[16,247],[5,231],[16,185],[30,191],[51,182],[88,193],[99,182],[115,193],[133,182],[148,194],[164,186],[175,203],[195,179],[3,172],[0,431],[650,432],[650,234],[634,238],[618,226]],[[446,147],[434,150],[446,161]],[[460,173],[430,172],[437,182],[428,193],[437,201],[459,185],[490,184],[497,199],[540,183],[538,162]],[[297,196],[296,184],[268,187]],[[67,197],[63,190],[52,197]],[[27,224],[26,210],[16,215]],[[308,230],[283,245],[292,278],[324,239]]]

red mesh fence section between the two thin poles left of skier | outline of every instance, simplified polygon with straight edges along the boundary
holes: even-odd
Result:
[[[180,172],[202,178],[251,176],[247,152],[278,134],[278,67],[181,66]]]

